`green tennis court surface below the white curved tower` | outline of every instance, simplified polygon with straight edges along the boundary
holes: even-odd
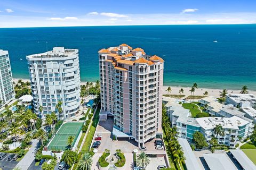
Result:
[[[49,150],[65,150],[67,147],[67,141],[69,136],[74,136],[75,140],[72,143],[72,147],[74,146],[78,135],[82,129],[83,123],[78,122],[68,122],[62,124],[59,131],[52,139],[50,145],[48,146]]]

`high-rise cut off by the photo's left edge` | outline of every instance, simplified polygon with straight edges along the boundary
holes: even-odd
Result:
[[[7,104],[15,98],[8,51],[0,49],[0,100]]]

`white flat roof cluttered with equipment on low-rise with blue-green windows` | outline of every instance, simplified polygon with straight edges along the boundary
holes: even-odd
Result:
[[[245,121],[244,119],[237,117],[237,116],[233,116],[233,117],[201,117],[201,118],[196,118],[196,121],[205,130],[213,129],[218,124],[221,124],[222,128],[238,130],[239,126],[243,126],[243,125],[246,125],[247,123],[249,123],[248,121]]]

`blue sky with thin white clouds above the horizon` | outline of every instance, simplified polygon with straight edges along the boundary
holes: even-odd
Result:
[[[0,0],[0,28],[256,23],[255,0]]]

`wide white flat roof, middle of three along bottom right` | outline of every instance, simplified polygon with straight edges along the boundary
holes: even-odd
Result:
[[[226,153],[203,154],[204,160],[211,170],[237,170]]]

